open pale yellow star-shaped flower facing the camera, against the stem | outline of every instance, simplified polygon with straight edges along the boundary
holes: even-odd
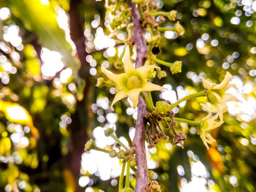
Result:
[[[139,94],[141,91],[161,91],[162,88],[159,85],[155,85],[152,82],[147,81],[147,75],[152,72],[157,66],[144,65],[135,69],[132,65],[129,55],[129,47],[126,47],[124,53],[124,73],[114,74],[102,65],[102,72],[116,84],[116,96],[111,104],[113,110],[113,104],[117,101],[129,96],[132,100],[133,108],[137,107]]]

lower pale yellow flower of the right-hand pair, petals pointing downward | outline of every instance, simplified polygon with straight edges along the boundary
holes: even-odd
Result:
[[[208,107],[203,104],[201,105],[206,108],[206,110],[208,111],[208,115],[206,115],[206,117],[200,121],[200,130],[198,131],[198,134],[200,134],[203,144],[206,145],[206,148],[208,150],[208,144],[211,145],[211,143],[216,141],[213,137],[211,137],[211,134],[209,134],[208,131],[211,131],[214,128],[221,126],[224,121],[221,118],[219,118],[220,120],[217,120],[219,114],[212,116],[211,111],[208,109]]]

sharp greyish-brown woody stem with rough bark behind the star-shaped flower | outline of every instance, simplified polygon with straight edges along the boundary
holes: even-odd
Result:
[[[132,0],[129,0],[129,6],[132,8],[133,19],[133,34],[132,40],[135,42],[136,47],[136,68],[143,66],[146,60],[147,46],[143,35],[143,29],[140,26],[140,14]],[[149,183],[148,178],[148,166],[146,160],[146,148],[145,148],[145,134],[146,134],[146,122],[144,115],[146,114],[146,104],[140,96],[138,102],[138,118],[136,121],[135,138],[132,141],[133,147],[135,147],[135,154],[137,159],[137,173],[136,173],[136,185],[135,192],[146,191],[146,186]]]

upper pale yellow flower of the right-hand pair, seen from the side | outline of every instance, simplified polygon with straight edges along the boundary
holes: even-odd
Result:
[[[216,107],[217,112],[227,112],[227,101],[237,101],[236,97],[232,94],[225,93],[228,88],[234,87],[230,85],[229,82],[232,79],[230,72],[226,72],[224,80],[218,85],[216,83],[211,83],[204,78],[201,78],[203,86],[206,88],[206,99],[209,103]]]

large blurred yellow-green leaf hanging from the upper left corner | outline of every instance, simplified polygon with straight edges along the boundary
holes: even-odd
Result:
[[[78,69],[78,61],[71,55],[72,47],[66,41],[64,31],[59,28],[52,7],[42,4],[39,0],[7,0],[7,2],[12,14],[20,18],[29,31],[37,33],[42,47],[58,51],[67,66]]]

